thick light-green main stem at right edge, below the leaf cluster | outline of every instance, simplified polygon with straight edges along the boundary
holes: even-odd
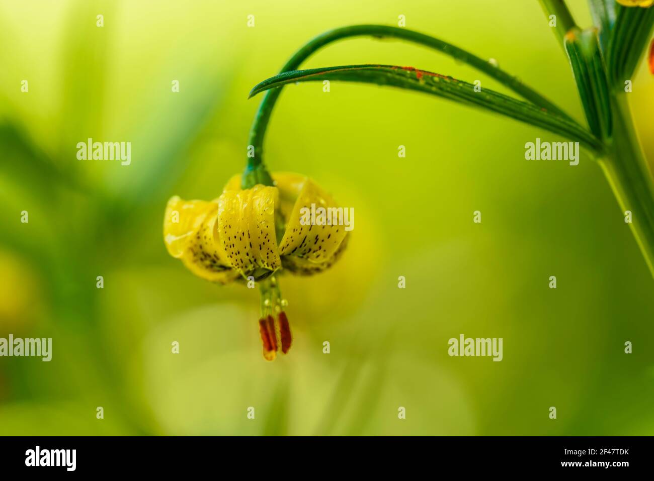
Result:
[[[629,227],[654,277],[654,185],[647,167],[625,93],[613,98],[613,139],[600,160],[623,211],[632,212]]]

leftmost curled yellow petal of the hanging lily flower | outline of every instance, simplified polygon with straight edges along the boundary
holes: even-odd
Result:
[[[163,220],[163,241],[169,254],[197,276],[226,284],[238,277],[230,267],[216,227],[218,203],[172,197]]]

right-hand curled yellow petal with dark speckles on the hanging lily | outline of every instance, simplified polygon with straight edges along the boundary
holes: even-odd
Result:
[[[347,235],[342,225],[344,214],[344,209],[338,207],[331,195],[305,178],[286,219],[286,233],[279,244],[279,253],[303,259],[305,262],[298,261],[303,269],[326,269]]]

